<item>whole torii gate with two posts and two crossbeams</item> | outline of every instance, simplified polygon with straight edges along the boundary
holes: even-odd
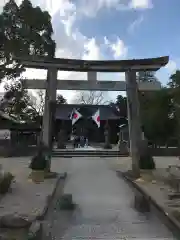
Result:
[[[165,66],[169,57],[134,60],[89,61],[62,58],[15,58],[26,68],[47,69],[47,79],[23,80],[26,88],[46,89],[45,109],[43,116],[42,139],[47,145],[52,140],[52,107],[56,102],[56,90],[93,90],[93,91],[126,91],[129,123],[130,152],[132,170],[139,176],[139,143],[141,141],[141,121],[139,115],[138,91],[154,91],[161,88],[159,82],[137,83],[136,73],[141,71],[157,71]],[[58,80],[57,72],[87,72],[88,81]],[[125,72],[126,81],[97,81],[97,72]]]

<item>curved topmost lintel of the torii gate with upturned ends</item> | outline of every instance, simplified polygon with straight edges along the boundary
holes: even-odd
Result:
[[[132,60],[110,60],[110,61],[90,61],[79,59],[65,59],[47,57],[15,57],[27,68],[48,69],[56,68],[62,71],[77,72],[126,72],[134,71],[157,71],[169,62],[169,57],[132,59]]]

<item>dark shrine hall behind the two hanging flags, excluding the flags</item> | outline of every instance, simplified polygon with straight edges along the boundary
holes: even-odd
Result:
[[[74,126],[70,119],[73,109],[79,111],[82,115]],[[100,128],[92,120],[93,114],[99,109],[100,111]],[[89,141],[104,142],[105,124],[110,127],[111,143],[118,142],[119,125],[127,123],[127,120],[121,116],[121,112],[113,105],[82,105],[82,104],[58,104],[55,114],[54,133],[57,136],[60,128],[65,126],[67,135],[70,137],[72,130],[76,132],[84,129],[88,135]]]

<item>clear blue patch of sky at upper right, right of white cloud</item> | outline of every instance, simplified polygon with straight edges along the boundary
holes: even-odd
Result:
[[[172,65],[179,67],[180,63],[180,33],[176,27],[180,21],[180,1],[156,0],[151,3],[153,6],[146,9],[102,9],[96,16],[80,21],[79,29],[88,37],[96,36],[99,42],[104,36],[112,40],[119,36],[128,47],[126,58],[170,56],[173,62],[170,61],[169,68],[157,72],[159,80],[165,84],[174,71]],[[112,58],[112,55],[106,57]]]

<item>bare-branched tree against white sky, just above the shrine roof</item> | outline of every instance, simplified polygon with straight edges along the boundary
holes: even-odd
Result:
[[[83,91],[77,92],[75,99],[76,104],[100,105],[107,104],[109,101],[105,100],[105,94],[101,91]]]

